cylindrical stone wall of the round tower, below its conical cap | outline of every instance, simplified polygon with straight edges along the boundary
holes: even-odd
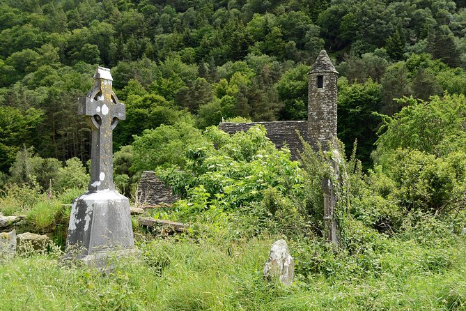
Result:
[[[318,76],[323,76],[323,87],[317,87]],[[307,120],[309,139],[320,142],[327,149],[336,137],[336,79],[338,73],[310,73]]]

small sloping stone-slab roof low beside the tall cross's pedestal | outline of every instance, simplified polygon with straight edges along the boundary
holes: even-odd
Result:
[[[154,171],[144,171],[137,187],[139,202],[148,205],[172,204],[178,200],[171,188]]]

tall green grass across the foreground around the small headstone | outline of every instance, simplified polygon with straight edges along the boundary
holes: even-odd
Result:
[[[53,255],[17,257],[0,266],[0,310],[466,310],[465,238],[444,250],[446,266],[421,264],[428,248],[394,241],[378,273],[297,275],[291,287],[262,278],[273,241],[146,241],[139,260],[117,261],[108,276]]]

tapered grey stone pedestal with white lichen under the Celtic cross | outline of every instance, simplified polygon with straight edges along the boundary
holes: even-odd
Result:
[[[111,257],[136,254],[130,202],[115,190],[86,192],[71,207],[64,260],[105,268]]]

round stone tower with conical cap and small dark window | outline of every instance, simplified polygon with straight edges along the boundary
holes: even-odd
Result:
[[[318,142],[327,149],[336,137],[336,79],[338,71],[325,50],[320,51],[309,75],[309,96],[307,103],[308,136],[314,147]]]

